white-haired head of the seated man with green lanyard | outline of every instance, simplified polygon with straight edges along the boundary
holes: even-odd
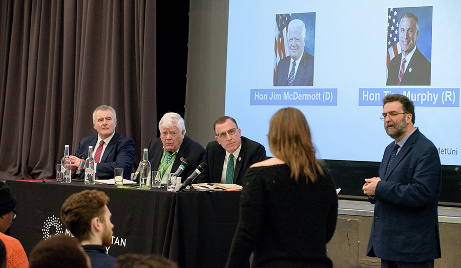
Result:
[[[158,129],[165,150],[174,152],[181,146],[186,130],[184,119],[179,114],[164,114],[158,123]]]

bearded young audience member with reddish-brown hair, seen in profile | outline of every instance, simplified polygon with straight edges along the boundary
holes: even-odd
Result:
[[[101,191],[85,190],[69,196],[61,207],[61,220],[88,254],[93,268],[112,268],[117,259],[106,247],[112,244],[112,213],[109,197]]]

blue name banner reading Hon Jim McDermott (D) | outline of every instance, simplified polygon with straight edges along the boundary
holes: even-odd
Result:
[[[298,88],[250,90],[250,105],[336,106],[338,88]]]

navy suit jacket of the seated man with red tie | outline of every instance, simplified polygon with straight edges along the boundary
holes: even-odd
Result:
[[[93,146],[93,151],[97,149],[96,143],[98,135],[82,138],[77,145],[74,155],[78,158],[88,157],[88,146]],[[96,176],[99,180],[114,178],[114,169],[123,168],[123,177],[130,180],[131,168],[133,166],[135,142],[128,137],[124,137],[117,131],[111,141],[107,144],[106,150],[101,155],[100,162],[96,165]],[[81,178],[85,172],[80,173]]]

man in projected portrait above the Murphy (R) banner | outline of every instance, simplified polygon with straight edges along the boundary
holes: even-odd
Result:
[[[386,85],[431,85],[431,63],[416,46],[420,35],[418,18],[407,12],[398,27],[402,52],[389,63]]]

